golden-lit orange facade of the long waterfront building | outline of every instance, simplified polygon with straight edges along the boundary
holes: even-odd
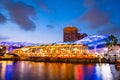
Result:
[[[87,54],[88,47],[82,44],[48,44],[12,50],[20,57],[74,57]]]

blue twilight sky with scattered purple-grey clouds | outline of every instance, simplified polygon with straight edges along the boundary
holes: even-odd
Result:
[[[120,43],[120,0],[0,0],[0,41],[59,42],[68,25]]]

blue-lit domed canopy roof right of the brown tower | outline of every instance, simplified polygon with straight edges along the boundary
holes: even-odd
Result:
[[[104,39],[107,39],[107,38],[108,38],[107,35],[91,35],[81,40],[75,41],[74,44],[87,45],[89,49],[93,49],[94,46],[96,46],[97,48],[101,48],[105,46]]]

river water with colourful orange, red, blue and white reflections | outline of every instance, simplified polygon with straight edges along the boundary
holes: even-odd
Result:
[[[114,64],[0,61],[0,80],[120,80]]]

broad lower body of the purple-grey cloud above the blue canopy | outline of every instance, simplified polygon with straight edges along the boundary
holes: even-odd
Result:
[[[80,21],[88,22],[89,28],[96,29],[109,22],[109,13],[92,8],[80,18]]]

